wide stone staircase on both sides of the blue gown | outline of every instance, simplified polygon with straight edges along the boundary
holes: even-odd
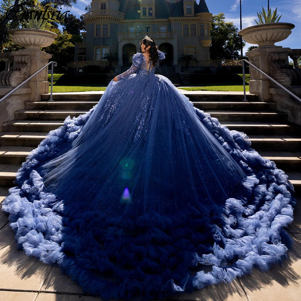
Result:
[[[184,92],[184,91],[183,91]],[[255,95],[200,95],[184,92],[194,105],[216,117],[229,129],[245,132],[253,148],[275,161],[301,193],[301,127],[289,124],[287,114],[276,111],[274,103],[259,102]],[[39,102],[26,102],[15,112],[15,120],[4,123],[0,133],[0,186],[14,186],[15,172],[46,134],[63,124],[68,116],[79,116],[97,104],[99,94],[42,95]]]

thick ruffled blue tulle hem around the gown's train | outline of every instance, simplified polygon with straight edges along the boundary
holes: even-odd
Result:
[[[247,135],[197,108],[200,121],[247,175],[223,207],[199,204],[130,219],[81,213],[48,192],[36,169],[72,146],[93,110],[68,117],[47,135],[19,169],[18,187],[3,202],[27,255],[58,264],[84,292],[104,299],[164,298],[231,281],[253,267],[265,271],[286,258],[291,239],[284,227],[293,221],[293,185],[251,148]]]

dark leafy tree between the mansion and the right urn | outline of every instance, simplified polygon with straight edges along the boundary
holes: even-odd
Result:
[[[236,59],[240,51],[240,35],[233,22],[226,22],[220,13],[211,19],[210,57],[212,60]],[[243,46],[246,43],[243,42]]]

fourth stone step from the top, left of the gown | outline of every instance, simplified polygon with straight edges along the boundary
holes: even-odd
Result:
[[[13,120],[3,123],[5,132],[50,132],[62,126],[62,120]]]

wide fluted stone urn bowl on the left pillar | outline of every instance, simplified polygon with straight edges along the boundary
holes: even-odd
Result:
[[[15,44],[26,46],[26,49],[40,49],[50,46],[57,37],[56,33],[48,30],[16,28],[8,30]]]

